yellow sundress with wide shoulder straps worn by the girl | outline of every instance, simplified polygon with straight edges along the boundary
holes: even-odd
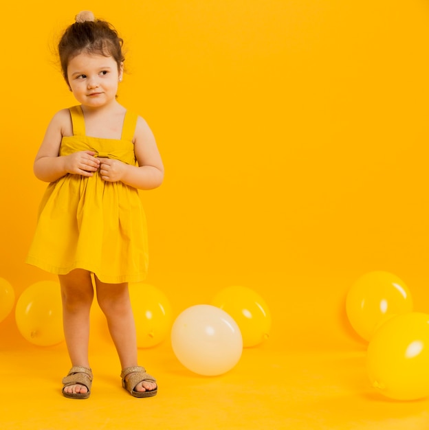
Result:
[[[80,106],[69,109],[73,136],[63,137],[60,155],[91,150],[136,165],[133,136],[137,115],[126,111],[120,139],[89,137]],[[50,183],[39,207],[36,232],[26,262],[50,273],[73,269],[95,273],[102,282],[140,282],[146,277],[146,217],[136,188],[66,174]]]

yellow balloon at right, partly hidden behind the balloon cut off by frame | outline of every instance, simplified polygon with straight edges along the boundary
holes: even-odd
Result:
[[[347,293],[346,311],[355,332],[370,341],[389,318],[412,311],[408,287],[396,275],[373,271],[361,276]]]

